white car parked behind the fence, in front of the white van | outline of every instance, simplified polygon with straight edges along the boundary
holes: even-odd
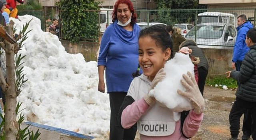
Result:
[[[196,30],[196,32],[195,32]],[[232,24],[202,23],[193,27],[185,36],[195,40],[200,48],[232,48],[236,42],[236,29]]]

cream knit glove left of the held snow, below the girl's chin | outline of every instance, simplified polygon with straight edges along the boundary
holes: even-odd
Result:
[[[158,84],[158,82],[162,81],[166,76],[166,72],[164,72],[164,68],[161,68],[157,73],[155,78],[153,79],[151,86],[149,88],[149,91],[154,89],[154,87],[156,86],[156,84]],[[149,92],[148,91],[148,92]],[[156,99],[154,97],[148,96],[148,94],[146,94],[144,97],[145,102],[148,104],[148,106],[152,106],[155,104]]]

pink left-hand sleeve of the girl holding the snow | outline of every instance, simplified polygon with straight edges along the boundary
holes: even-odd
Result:
[[[132,127],[149,108],[143,98],[126,106],[122,112],[121,124],[123,128]]]

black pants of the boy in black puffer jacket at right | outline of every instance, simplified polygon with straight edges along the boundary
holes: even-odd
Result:
[[[238,137],[240,129],[240,118],[242,114],[251,112],[251,132],[252,138],[256,139],[256,102],[244,101],[236,97],[236,100],[230,110],[229,123],[230,123],[230,134],[232,137]]]

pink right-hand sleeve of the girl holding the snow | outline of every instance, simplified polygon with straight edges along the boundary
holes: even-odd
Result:
[[[189,112],[183,124],[183,133],[186,137],[192,137],[197,133],[203,120],[203,116],[203,113],[196,114],[193,110]]]

